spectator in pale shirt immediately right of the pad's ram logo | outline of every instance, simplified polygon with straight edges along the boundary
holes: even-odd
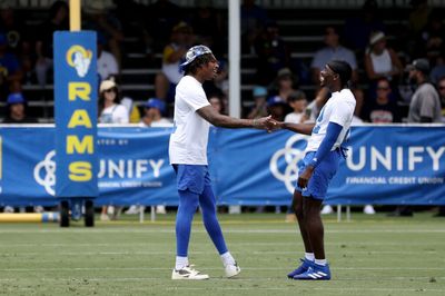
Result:
[[[101,33],[97,33],[97,70],[100,75],[101,80],[110,79],[111,77],[116,78],[119,76],[119,66],[115,56],[109,51],[105,50],[107,46],[107,39]]]

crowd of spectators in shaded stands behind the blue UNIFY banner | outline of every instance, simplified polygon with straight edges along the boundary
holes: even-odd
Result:
[[[444,20],[427,0],[409,3],[407,26],[394,29],[379,18],[383,13],[377,1],[365,1],[358,16],[346,18],[343,26],[326,26],[319,32],[324,43],[313,52],[310,61],[301,61],[293,58],[291,52],[299,49],[285,41],[283,28],[268,16],[267,9],[255,0],[244,0],[241,51],[255,60],[255,71],[249,77],[255,87],[250,96],[241,98],[244,106],[249,106],[244,116],[255,119],[271,115],[275,120],[294,124],[314,121],[330,96],[326,88],[318,87],[318,77],[323,67],[336,59],[347,61],[353,69],[349,87],[357,101],[353,122],[444,122]],[[228,110],[226,12],[215,9],[211,1],[196,1],[196,7],[181,13],[182,8],[169,0],[149,6],[123,0],[85,3],[82,28],[97,32],[99,122],[145,127],[170,124],[176,86],[184,76],[179,66],[185,62],[187,50],[197,43],[208,46],[220,58],[219,75],[202,87],[220,114]],[[38,118],[28,110],[22,86],[52,83],[52,33],[68,30],[68,23],[67,2],[56,1],[36,27],[39,33],[32,34],[23,19],[17,17],[13,1],[1,2],[3,122],[37,122]],[[120,88],[128,82],[121,73],[127,67],[123,38],[129,23],[134,33],[140,36],[141,53],[149,63],[156,65],[155,53],[162,56],[152,81],[147,81],[155,91],[145,98],[130,98]],[[375,213],[370,205],[364,210]],[[109,213],[117,215],[105,208],[103,219]],[[137,210],[131,208],[128,213]],[[324,213],[333,213],[333,208]]]

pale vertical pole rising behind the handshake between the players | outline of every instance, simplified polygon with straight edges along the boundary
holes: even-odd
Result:
[[[238,0],[229,4],[229,115],[239,118],[241,115],[241,79],[240,79],[240,8]]]

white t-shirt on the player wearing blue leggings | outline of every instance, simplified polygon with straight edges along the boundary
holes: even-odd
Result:
[[[210,124],[197,114],[209,106],[202,85],[185,76],[176,87],[175,130],[170,136],[170,164],[207,165],[207,141]]]

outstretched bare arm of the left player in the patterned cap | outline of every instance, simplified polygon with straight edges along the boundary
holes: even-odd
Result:
[[[207,121],[221,128],[266,128],[266,121],[270,117],[258,119],[239,119],[218,114],[210,105],[199,108],[197,112]]]

